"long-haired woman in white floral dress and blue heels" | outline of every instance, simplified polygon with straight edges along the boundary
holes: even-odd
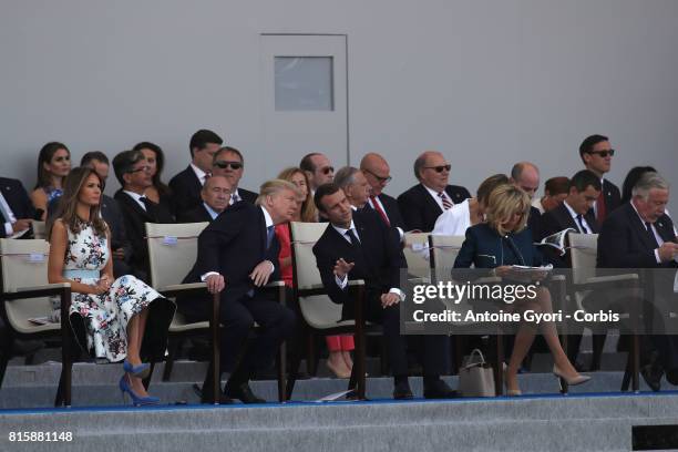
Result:
[[[142,383],[150,370],[142,362],[142,342],[144,355],[162,358],[174,305],[134,276],[113,278],[101,193],[102,181],[89,167],[76,167],[65,178],[58,219],[49,230],[48,279],[71,284],[69,321],[83,348],[86,341],[93,356],[124,360],[123,396],[130,394],[135,405],[155,404],[160,399]]]

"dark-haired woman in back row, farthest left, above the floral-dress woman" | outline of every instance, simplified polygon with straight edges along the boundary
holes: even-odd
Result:
[[[47,218],[48,206],[61,196],[63,179],[71,171],[71,152],[63,143],[50,142],[42,146],[38,156],[38,181],[31,192],[31,202]]]

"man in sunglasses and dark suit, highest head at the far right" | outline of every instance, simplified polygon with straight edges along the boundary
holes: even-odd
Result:
[[[579,157],[584,166],[598,176],[603,186],[600,196],[593,207],[598,225],[602,225],[607,215],[622,204],[619,188],[604,177],[605,173],[609,172],[613,155],[615,150],[612,148],[607,136],[590,135],[579,146]]]

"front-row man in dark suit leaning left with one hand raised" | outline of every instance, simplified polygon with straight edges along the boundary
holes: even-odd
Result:
[[[333,302],[343,305],[342,318],[353,318],[355,300],[347,290],[349,279],[366,281],[366,319],[383,325],[389,362],[394,377],[394,399],[410,399],[407,338],[400,335],[400,269],[407,267],[393,229],[373,213],[353,213],[336,184],[318,187],[314,201],[330,224],[314,246],[322,284]],[[446,337],[425,336],[423,341],[424,397],[454,397],[440,374],[445,370]]]

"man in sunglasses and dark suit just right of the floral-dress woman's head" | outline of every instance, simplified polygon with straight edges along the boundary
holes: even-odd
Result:
[[[130,265],[134,274],[148,281],[148,246],[145,223],[174,223],[174,217],[163,204],[155,204],[144,196],[153,184],[150,167],[141,151],[123,151],[113,158],[113,171],[122,188],[114,198],[124,218],[127,239],[134,249]]]

